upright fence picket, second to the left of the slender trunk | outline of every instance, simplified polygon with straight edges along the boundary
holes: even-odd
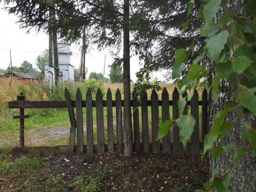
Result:
[[[108,118],[108,152],[114,152],[114,131],[113,131],[113,109],[112,109],[112,93],[108,88],[107,92],[107,118]]]

